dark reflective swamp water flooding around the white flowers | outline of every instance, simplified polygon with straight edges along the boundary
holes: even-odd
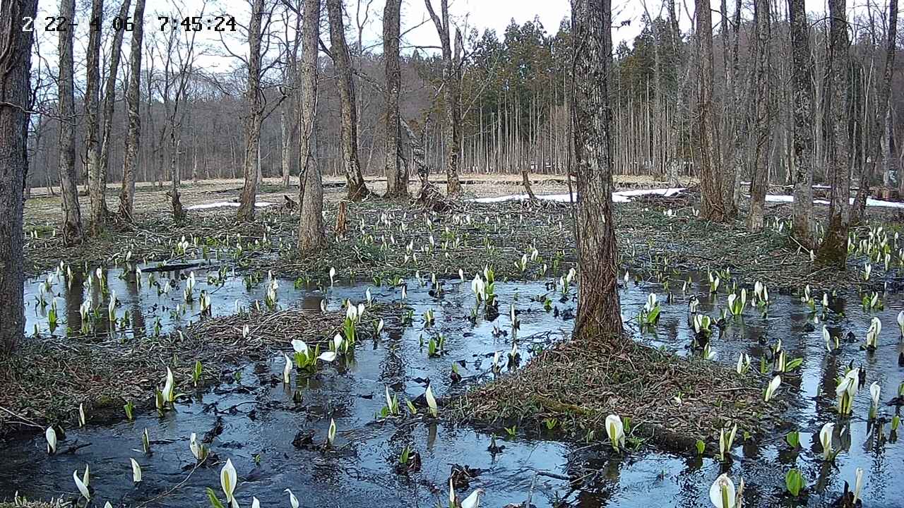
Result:
[[[215,268],[192,268],[197,277],[196,293],[202,289],[212,295],[212,315],[228,315],[234,312],[235,301],[247,308],[266,293],[267,281],[251,281],[241,277],[224,276],[220,283],[208,284],[207,275],[217,276]],[[127,334],[151,334],[155,327],[167,333],[175,326],[196,321],[199,304],[195,302],[181,315],[172,313],[183,301],[184,272],[160,272],[155,278],[164,284],[174,280],[168,294],[158,295],[156,287],[143,284],[136,287],[134,273],[120,278],[121,272],[109,270],[107,280],[110,289],[116,290],[120,306],[118,316],[129,309],[130,323]],[[147,278],[147,275],[144,276]],[[26,330],[37,325],[46,332],[47,317],[35,305],[39,285],[45,278],[33,279],[26,287]],[[292,281],[280,280],[279,305],[302,306],[311,312],[319,312],[320,301],[327,298],[330,308],[338,308],[344,298],[354,302],[364,299],[366,287],[371,288],[375,301],[399,302],[400,292],[395,287],[340,287],[321,292],[296,289]],[[833,299],[827,324],[833,335],[842,336],[841,353],[828,353],[825,349],[821,325],[810,330],[810,308],[796,296],[772,295],[767,317],[748,306],[743,317],[729,318],[729,326],[711,341],[711,353],[715,362],[733,368],[739,353],[749,353],[751,369],[758,369],[759,358],[768,345],[781,339],[789,358],[801,357],[803,363],[799,375],[783,375],[777,397],[790,402],[786,419],[788,430],[800,431],[800,449],[789,451],[782,438],[784,432],[767,442],[745,442],[739,431],[732,450],[734,460],[723,466],[710,456],[682,456],[659,451],[628,453],[613,457],[607,442],[589,446],[582,441],[518,436],[497,436],[500,453],[487,451],[491,436],[471,428],[454,427],[419,419],[379,420],[376,418],[384,406],[384,386],[389,385],[397,393],[400,402],[414,400],[424,392],[425,379],[432,380],[438,397],[462,390],[462,385],[492,379],[494,352],[504,359],[511,350],[509,336],[494,336],[494,326],[508,331],[509,304],[514,303],[520,314],[521,330],[518,348],[522,364],[535,348],[546,347],[570,334],[573,321],[568,317],[576,306],[572,296],[566,302],[560,294],[549,291],[554,306],[561,312],[547,312],[543,304],[533,296],[548,292],[543,282],[496,284],[501,315],[493,322],[483,317],[473,325],[467,320],[474,306],[470,281],[460,283],[447,280],[442,298],[428,294],[427,287],[418,287],[413,278],[408,280],[408,297],[405,305],[414,312],[414,325],[403,332],[383,334],[380,340],[359,340],[352,361],[324,364],[312,378],[297,381],[292,375],[292,388],[282,382],[283,361],[281,355],[267,362],[263,368],[246,364],[238,368],[238,381],[224,382],[190,402],[177,403],[175,411],[158,418],[155,412],[137,415],[135,421],[113,425],[90,425],[86,428],[67,428],[67,440],[61,444],[86,444],[74,454],[48,456],[42,434],[32,438],[18,438],[0,443],[0,455],[4,457],[0,468],[0,498],[10,498],[15,492],[32,499],[78,496],[72,481],[72,472],[90,466],[91,486],[94,489],[92,505],[102,506],[109,501],[114,506],[209,506],[206,487],[223,495],[220,490],[221,464],[200,467],[192,471],[194,458],[188,442],[191,433],[200,437],[213,428],[218,419],[222,432],[212,442],[212,453],[222,462],[231,458],[239,473],[240,484],[236,496],[242,506],[250,506],[251,496],[259,498],[261,506],[289,506],[289,488],[297,495],[302,506],[371,506],[374,502],[399,506],[446,506],[448,501],[448,475],[453,464],[481,470],[469,487],[457,492],[465,496],[477,488],[485,489],[483,506],[497,507],[509,503],[524,503],[530,496],[538,507],[551,506],[559,501],[582,507],[596,506],[710,506],[710,485],[720,473],[728,473],[737,484],[741,477],[747,484],[745,505],[831,505],[841,494],[845,481],[853,484],[855,469],[862,468],[862,498],[865,506],[904,506],[904,443],[878,443],[868,422],[870,407],[869,390],[864,387],[854,400],[853,415],[849,420],[850,447],[835,459],[834,465],[821,461],[819,429],[828,421],[838,420],[834,410],[836,376],[843,374],[844,366],[853,361],[865,367],[868,386],[872,381],[881,385],[881,411],[889,418],[894,407],[884,402],[897,394],[899,382],[904,380],[904,367],[899,365],[899,329],[895,322],[904,299],[900,295],[884,298],[885,310],[876,312],[883,328],[879,347],[875,353],[860,350],[871,315],[866,314],[855,295],[841,295]],[[57,283],[52,292],[60,297],[58,308],[66,309],[61,315],[60,328],[66,321],[74,330],[80,328],[79,306],[89,291],[67,290],[64,283]],[[626,322],[637,315],[650,292],[660,294],[664,300],[662,285],[646,282],[633,283],[623,288],[621,300]],[[708,287],[700,282],[692,284],[689,293],[703,295]],[[775,292],[777,293],[777,292]],[[816,312],[822,314],[818,303],[822,295],[815,295]],[[699,311],[716,316],[719,307],[725,306],[724,291],[716,296],[702,297]],[[106,304],[96,294],[95,306],[100,306],[106,319]],[[627,325],[637,340],[655,347],[663,347],[678,354],[692,354],[688,345],[692,341],[692,329],[687,324],[687,296],[676,295],[675,303],[663,302],[659,324],[653,332],[640,333],[636,321]],[[261,304],[262,305],[262,304]],[[423,328],[423,313],[433,309],[436,324]],[[566,317],[562,317],[565,315]],[[160,324],[156,324],[156,317]],[[379,316],[365,312],[363,324]],[[102,325],[99,325],[102,326]],[[855,342],[846,342],[844,336],[852,332]],[[446,337],[447,354],[441,358],[428,358],[428,337],[442,333]],[[765,337],[760,340],[760,337]],[[696,353],[699,354],[699,353]],[[452,362],[463,361],[459,372],[465,378],[461,385],[452,385],[449,371]],[[504,362],[504,360],[502,360]],[[517,368],[517,367],[513,367]],[[507,368],[503,368],[505,375]],[[165,366],[161,365],[160,378]],[[765,386],[768,377],[763,377]],[[293,400],[296,384],[302,393],[302,401]],[[150,387],[148,387],[150,390]],[[671,395],[678,395],[669,394]],[[407,411],[404,402],[401,410]],[[421,413],[424,409],[419,409]],[[442,410],[442,409],[440,409]],[[675,407],[665,418],[681,418],[681,409]],[[324,451],[319,445],[325,442],[330,420],[334,419],[338,435],[335,450]],[[838,425],[837,427],[841,427]],[[141,451],[141,434],[147,428],[153,454],[145,456]],[[316,447],[297,448],[292,440],[298,431],[313,432]],[[885,426],[888,436],[889,426]],[[398,475],[394,466],[403,447],[418,452],[422,467],[417,473]],[[138,451],[136,451],[138,450]],[[132,483],[129,458],[135,458],[143,469],[143,482]],[[259,457],[256,465],[255,457]],[[785,474],[792,467],[804,473],[809,495],[803,500],[791,500],[784,492]],[[536,475],[549,472],[552,475]],[[579,488],[565,475],[589,475]],[[558,476],[558,477],[557,477]]]

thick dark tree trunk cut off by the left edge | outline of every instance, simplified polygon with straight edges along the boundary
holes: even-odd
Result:
[[[28,172],[29,75],[37,0],[4,0],[0,9],[0,358],[12,353],[25,327],[23,185]]]

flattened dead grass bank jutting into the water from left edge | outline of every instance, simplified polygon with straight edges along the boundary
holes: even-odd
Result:
[[[397,320],[382,316],[387,329]],[[96,422],[125,418],[123,405],[153,408],[155,388],[172,368],[182,392],[195,390],[192,371],[202,362],[202,385],[216,384],[240,362],[266,362],[290,341],[325,343],[343,313],[297,308],[204,320],[182,334],[159,337],[29,337],[0,362],[0,435],[15,428],[78,423],[80,403]],[[242,327],[249,325],[249,337]],[[365,326],[365,328],[369,328]]]

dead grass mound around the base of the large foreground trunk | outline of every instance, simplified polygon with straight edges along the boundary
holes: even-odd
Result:
[[[458,419],[502,429],[544,428],[555,419],[572,437],[606,438],[610,414],[631,419],[631,435],[696,453],[718,443],[720,428],[739,436],[768,432],[782,403],[763,402],[765,381],[713,362],[683,359],[631,340],[559,343],[512,374],[485,383],[447,407]],[[681,403],[674,400],[680,397]]]

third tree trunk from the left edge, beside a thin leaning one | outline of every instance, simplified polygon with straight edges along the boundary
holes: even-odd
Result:
[[[103,0],[91,0],[91,19],[102,20]],[[88,80],[85,83],[85,151],[88,169],[89,227],[91,234],[99,234],[107,221],[107,201],[104,197],[106,182],[100,174],[100,27],[91,27],[88,35],[88,55],[86,67]]]

